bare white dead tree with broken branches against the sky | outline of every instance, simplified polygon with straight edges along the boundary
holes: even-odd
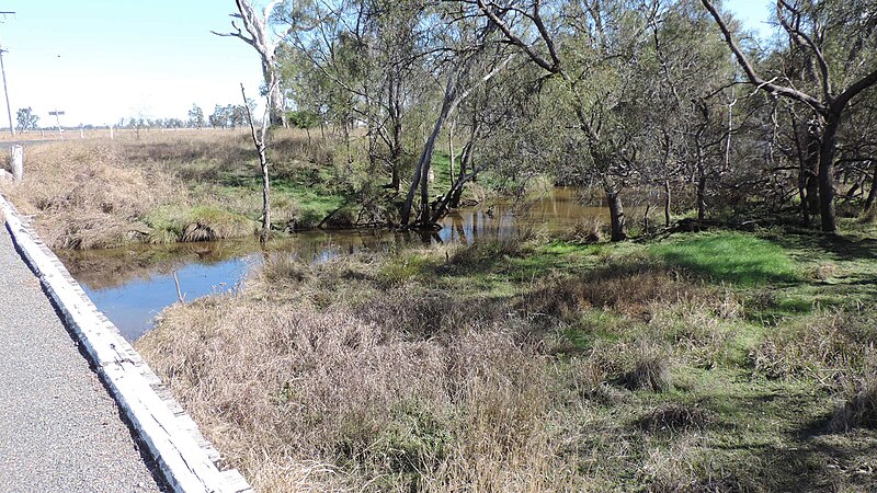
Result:
[[[232,18],[239,19],[243,23],[244,34],[235,21],[231,21],[231,27],[235,30],[230,33],[213,32],[217,36],[232,36],[242,39],[248,45],[252,46],[262,60],[262,76],[265,81],[269,101],[269,115],[271,125],[287,126],[286,123],[286,101],[280,87],[280,74],[277,71],[277,48],[283,38],[291,34],[295,24],[281,36],[273,36],[269,20],[271,13],[281,3],[281,0],[272,0],[261,13],[257,12],[250,0],[236,0],[238,12],[231,14]]]

